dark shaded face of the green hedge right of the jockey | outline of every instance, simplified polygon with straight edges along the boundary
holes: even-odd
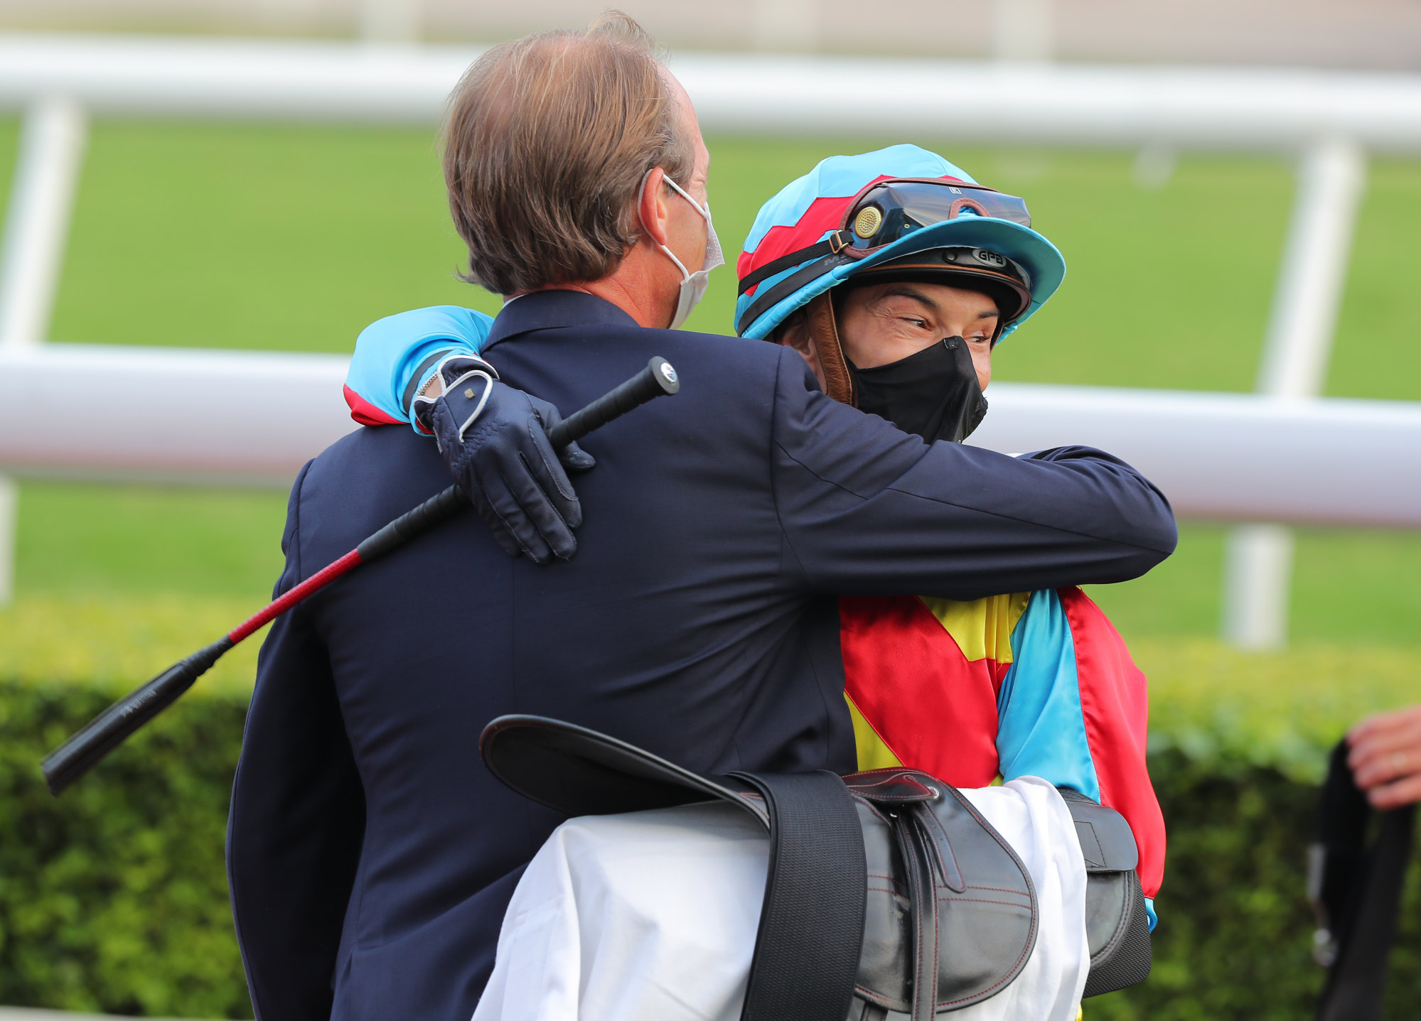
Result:
[[[1150,981],[1087,1001],[1090,1021],[1304,1021],[1322,968],[1303,899],[1316,787],[1239,758],[1169,750],[1150,771],[1169,826]],[[1407,886],[1387,1018],[1421,1003],[1421,868]]]

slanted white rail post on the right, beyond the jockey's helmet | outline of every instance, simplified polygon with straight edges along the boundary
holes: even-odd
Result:
[[[1283,400],[1322,393],[1366,179],[1367,156],[1351,139],[1322,138],[1303,155],[1259,393]],[[1243,649],[1282,648],[1287,642],[1292,533],[1266,524],[1235,528],[1225,557],[1223,639]]]

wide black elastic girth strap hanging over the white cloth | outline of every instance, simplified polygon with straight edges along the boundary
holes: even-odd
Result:
[[[864,941],[858,809],[833,772],[750,774],[770,812],[770,870],[740,1021],[847,1017]]]

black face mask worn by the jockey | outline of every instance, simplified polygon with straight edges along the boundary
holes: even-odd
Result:
[[[888,365],[848,365],[858,389],[858,408],[888,419],[905,433],[932,443],[961,443],[986,415],[972,352],[961,337],[949,337]]]

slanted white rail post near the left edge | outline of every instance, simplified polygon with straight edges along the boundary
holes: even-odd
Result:
[[[0,351],[50,332],[87,128],[84,109],[65,97],[45,97],[24,115],[0,240]],[[0,606],[14,598],[18,503],[16,481],[0,476]]]

